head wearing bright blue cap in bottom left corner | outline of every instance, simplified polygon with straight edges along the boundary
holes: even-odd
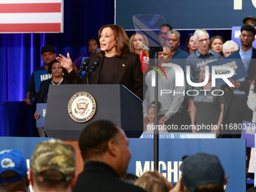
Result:
[[[20,150],[0,152],[0,191],[29,191],[26,159]]]

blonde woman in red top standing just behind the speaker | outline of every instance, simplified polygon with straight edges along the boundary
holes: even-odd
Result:
[[[139,59],[142,62],[142,72],[145,75],[149,68],[149,48],[148,38],[144,34],[137,33],[130,38],[130,51],[139,54]]]

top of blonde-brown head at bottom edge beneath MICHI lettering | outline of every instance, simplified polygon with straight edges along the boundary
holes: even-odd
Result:
[[[148,192],[169,192],[173,188],[173,185],[157,171],[145,172],[138,178],[135,185],[142,187]]]

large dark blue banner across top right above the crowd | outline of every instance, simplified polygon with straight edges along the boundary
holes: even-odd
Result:
[[[136,14],[160,14],[173,29],[231,29],[242,20],[255,16],[255,0],[115,0],[115,23],[134,29]]]

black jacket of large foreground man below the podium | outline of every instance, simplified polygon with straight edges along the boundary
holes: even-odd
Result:
[[[117,177],[117,172],[105,163],[89,161],[78,175],[73,192],[145,192],[141,187],[128,184]]]

